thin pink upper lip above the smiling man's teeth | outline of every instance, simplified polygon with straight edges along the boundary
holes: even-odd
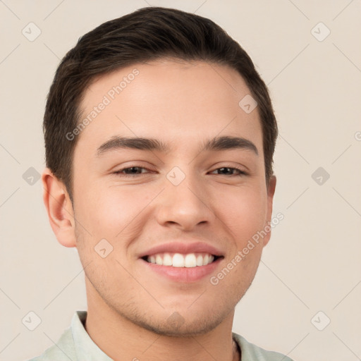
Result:
[[[197,242],[197,243],[186,243],[186,242],[169,242],[163,243],[161,245],[156,245],[145,252],[140,254],[140,258],[145,256],[156,255],[157,253],[195,253],[195,252],[206,252],[214,256],[223,256],[222,252],[212,245],[207,243]]]

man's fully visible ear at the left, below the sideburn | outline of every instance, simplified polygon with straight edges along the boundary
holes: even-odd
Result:
[[[75,221],[73,204],[66,186],[59,181],[49,168],[42,173],[43,200],[49,216],[50,226],[59,243],[75,247]]]

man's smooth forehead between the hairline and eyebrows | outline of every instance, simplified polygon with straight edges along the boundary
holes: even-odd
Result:
[[[237,135],[262,152],[257,108],[247,114],[239,105],[249,95],[243,78],[227,66],[166,59],[136,63],[87,87],[80,122],[88,121],[77,147],[86,145],[95,154],[111,137],[128,136],[159,139],[175,150]]]

